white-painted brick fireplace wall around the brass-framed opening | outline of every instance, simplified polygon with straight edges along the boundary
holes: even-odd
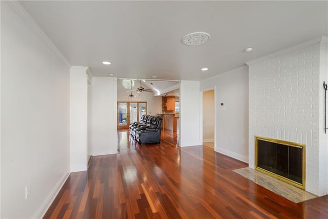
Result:
[[[255,135],[305,144],[305,190],[320,196],[328,193],[327,41],[318,37],[247,63],[249,166],[254,169]]]

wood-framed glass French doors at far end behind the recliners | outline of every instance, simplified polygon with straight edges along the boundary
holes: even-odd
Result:
[[[117,129],[127,129],[147,114],[147,102],[117,102]]]

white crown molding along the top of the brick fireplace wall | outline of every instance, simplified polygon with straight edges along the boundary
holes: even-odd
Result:
[[[292,52],[292,51],[295,51],[297,49],[300,49],[300,48],[303,48],[303,47],[306,47],[306,46],[311,46],[311,45],[314,45],[314,44],[317,44],[317,43],[320,43],[320,42],[325,42],[325,43],[328,42],[328,37],[327,36],[318,36],[318,37],[315,37],[313,39],[310,39],[309,41],[305,41],[303,43],[297,44],[295,46],[279,50],[279,51],[271,53],[269,55],[264,55],[260,58],[254,59],[253,61],[246,62],[245,64],[248,65],[248,66],[249,65],[254,65],[255,63],[261,62],[265,59],[273,58],[273,57],[276,57],[278,55],[282,55],[282,54],[285,54],[285,53],[288,53],[288,52]]]

